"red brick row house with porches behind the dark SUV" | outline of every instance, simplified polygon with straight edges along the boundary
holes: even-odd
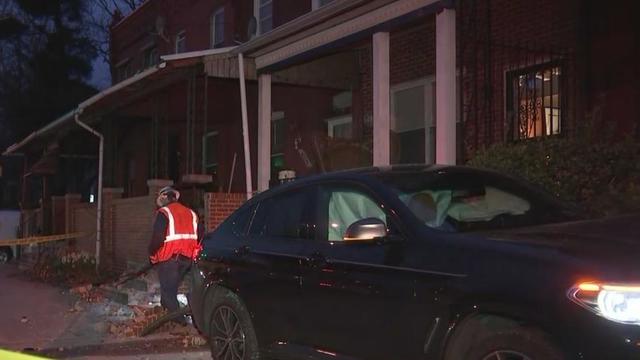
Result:
[[[637,139],[637,8],[147,0],[114,19],[113,86],[5,153],[26,155],[23,209],[49,214],[44,232],[69,230],[61,204],[98,198],[97,137],[78,122],[96,129],[98,247],[122,267],[144,260],[152,194],[169,183],[211,229],[280,170],[464,163],[491,144],[571,136],[587,122]]]

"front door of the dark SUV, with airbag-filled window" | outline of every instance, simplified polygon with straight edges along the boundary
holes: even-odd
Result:
[[[364,188],[326,186],[320,191],[318,236],[306,249],[303,298],[305,345],[361,359],[412,359],[423,351],[425,307],[415,278],[403,269],[407,242],[397,219]],[[357,220],[387,224],[386,243],[343,241]]]

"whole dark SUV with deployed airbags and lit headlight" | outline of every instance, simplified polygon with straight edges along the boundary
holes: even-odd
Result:
[[[321,175],[204,241],[214,359],[640,359],[640,217],[463,167]]]

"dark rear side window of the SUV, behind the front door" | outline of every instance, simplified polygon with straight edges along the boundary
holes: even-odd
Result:
[[[293,190],[260,203],[250,234],[259,237],[304,238],[315,236],[312,224],[312,188]]]

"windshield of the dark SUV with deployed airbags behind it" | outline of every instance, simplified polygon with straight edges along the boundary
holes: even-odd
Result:
[[[480,171],[383,173],[379,179],[421,222],[448,232],[497,230],[578,219],[551,195]]]

